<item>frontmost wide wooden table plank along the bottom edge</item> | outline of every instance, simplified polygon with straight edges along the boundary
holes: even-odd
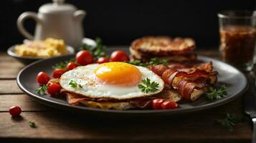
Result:
[[[250,142],[249,122],[228,132],[216,119],[223,113],[197,112],[193,116],[168,119],[91,119],[68,112],[23,112],[22,119],[0,113],[1,138],[82,139],[102,142]],[[36,129],[28,122],[37,124]],[[161,121],[161,122],[160,122]],[[24,132],[26,131],[26,132]],[[50,131],[50,132],[49,132]]]

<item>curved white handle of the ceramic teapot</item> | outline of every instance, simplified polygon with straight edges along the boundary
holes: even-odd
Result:
[[[37,13],[29,11],[24,12],[19,16],[19,18],[17,19],[17,27],[19,29],[19,32],[21,32],[21,34],[23,34],[27,39],[33,40],[34,36],[30,34],[26,29],[24,29],[23,24],[24,21],[29,18],[34,19],[37,23],[41,23],[41,20],[38,18]]]

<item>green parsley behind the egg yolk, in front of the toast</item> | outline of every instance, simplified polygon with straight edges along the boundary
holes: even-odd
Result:
[[[128,61],[128,63],[136,65],[136,66],[149,66],[149,65],[157,65],[157,64],[168,65],[169,61],[167,59],[159,59],[157,57],[154,57],[154,58],[151,58],[151,60],[148,62],[142,62],[140,60],[133,60],[133,61]]]

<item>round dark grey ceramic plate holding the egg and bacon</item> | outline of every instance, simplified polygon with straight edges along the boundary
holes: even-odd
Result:
[[[108,52],[111,52],[115,49],[108,49]],[[239,97],[247,89],[247,79],[244,74],[239,70],[235,69],[229,64],[225,64],[222,61],[216,59],[211,59],[205,56],[199,56],[199,59],[202,61],[212,61],[214,65],[214,70],[219,72],[217,86],[222,86],[225,84],[227,87],[228,95],[222,99],[217,99],[213,102],[208,102],[204,97],[196,100],[196,102],[186,102],[179,104],[178,109],[169,109],[169,110],[110,110],[110,109],[93,109],[90,107],[78,107],[70,106],[67,104],[65,99],[57,99],[54,97],[49,97],[49,95],[39,95],[34,92],[34,89],[37,89],[39,85],[36,82],[36,76],[39,71],[46,71],[48,74],[52,72],[52,65],[60,61],[68,60],[75,55],[68,56],[59,56],[50,59],[44,59],[36,61],[29,66],[26,66],[22,71],[19,72],[17,77],[17,84],[19,88],[22,89],[29,97],[36,99],[38,102],[47,104],[51,107],[58,109],[65,109],[71,112],[79,112],[82,114],[93,114],[96,116],[106,116],[111,117],[113,115],[118,116],[156,116],[156,115],[173,115],[173,114],[184,114],[196,112],[203,109],[209,109],[212,107],[217,107],[227,102],[231,102],[233,99]]]

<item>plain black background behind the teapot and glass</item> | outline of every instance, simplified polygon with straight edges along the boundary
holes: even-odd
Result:
[[[21,43],[16,19],[24,11],[37,11],[50,0],[1,1],[0,50]],[[191,36],[199,48],[219,44],[217,12],[254,10],[255,0],[67,0],[85,9],[85,36],[99,36],[106,45],[130,44],[147,35]],[[25,26],[34,31],[34,21]]]

